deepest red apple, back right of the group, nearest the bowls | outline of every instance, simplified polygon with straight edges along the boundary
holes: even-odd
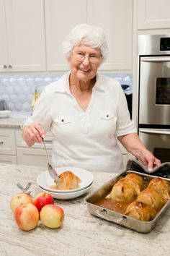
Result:
[[[37,207],[39,212],[43,206],[49,204],[54,204],[53,197],[49,193],[41,192],[35,197],[34,205]]]

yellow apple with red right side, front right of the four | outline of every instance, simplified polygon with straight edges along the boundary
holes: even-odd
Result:
[[[50,229],[59,228],[64,220],[63,208],[58,205],[45,205],[40,211],[40,220]]]

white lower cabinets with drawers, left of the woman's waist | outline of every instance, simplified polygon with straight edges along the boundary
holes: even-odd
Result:
[[[52,155],[53,136],[45,135],[48,154]],[[43,144],[35,143],[31,148],[22,139],[21,129],[0,128],[0,162],[17,163],[47,168],[48,158]]]

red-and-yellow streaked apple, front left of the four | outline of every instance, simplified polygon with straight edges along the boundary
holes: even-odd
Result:
[[[39,212],[32,203],[22,203],[14,210],[14,218],[19,229],[30,231],[37,226]]]

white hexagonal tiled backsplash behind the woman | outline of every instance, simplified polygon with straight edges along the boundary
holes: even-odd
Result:
[[[132,74],[106,74],[114,77],[121,85],[130,85],[127,93],[132,93]],[[61,75],[0,75],[0,101],[4,100],[6,109],[12,116],[30,116],[32,114],[32,96],[35,88],[41,93],[46,85],[58,80]]]

